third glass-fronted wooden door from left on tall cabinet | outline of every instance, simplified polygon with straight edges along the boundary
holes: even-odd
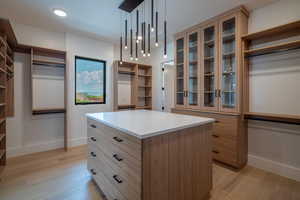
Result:
[[[217,111],[218,98],[218,24],[210,24],[201,29],[201,107]]]

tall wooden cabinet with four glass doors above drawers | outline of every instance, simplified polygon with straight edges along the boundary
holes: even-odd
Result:
[[[173,112],[215,118],[213,158],[236,168],[247,162],[241,101],[247,27],[248,12],[240,6],[175,36]]]

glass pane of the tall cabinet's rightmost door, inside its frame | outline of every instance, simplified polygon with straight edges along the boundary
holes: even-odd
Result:
[[[222,24],[222,107],[236,107],[235,18]]]

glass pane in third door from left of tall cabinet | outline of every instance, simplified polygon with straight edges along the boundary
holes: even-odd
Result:
[[[204,106],[215,107],[215,27],[204,29]]]

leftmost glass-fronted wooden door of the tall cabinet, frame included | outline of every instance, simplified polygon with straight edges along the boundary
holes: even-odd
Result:
[[[185,37],[178,37],[175,40],[175,64],[176,64],[176,83],[175,83],[175,105],[176,107],[185,106],[186,85],[185,85]]]

